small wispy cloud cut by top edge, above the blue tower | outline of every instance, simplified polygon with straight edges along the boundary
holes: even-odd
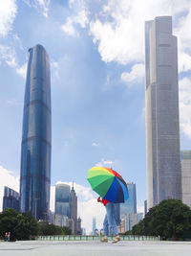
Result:
[[[28,6],[35,8],[38,12],[42,13],[46,18],[49,13],[49,6],[51,0],[23,0]]]

